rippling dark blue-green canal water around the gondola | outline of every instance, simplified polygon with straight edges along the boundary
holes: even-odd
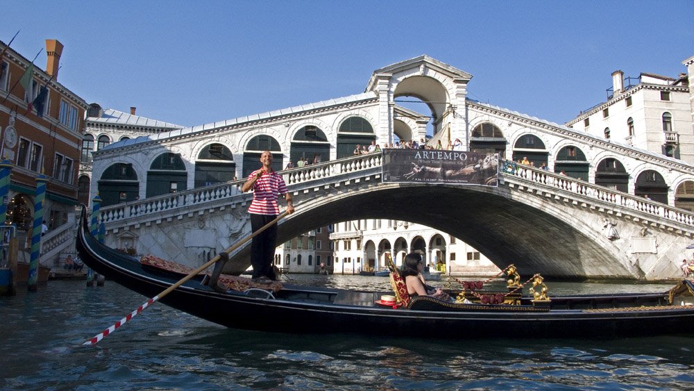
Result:
[[[384,277],[291,277],[295,283],[389,289]],[[547,283],[550,295],[664,292],[672,285]],[[694,382],[694,338],[684,336],[431,340],[391,338],[387,330],[380,337],[259,333],[224,328],[161,303],[99,344],[82,345],[144,301],[111,281],[98,288],[49,281],[36,293],[20,289],[1,298],[0,390],[682,390]]]

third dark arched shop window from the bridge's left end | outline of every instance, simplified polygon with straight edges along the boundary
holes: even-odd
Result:
[[[236,163],[231,151],[222,144],[210,144],[198,153],[195,161],[195,187],[233,181]]]

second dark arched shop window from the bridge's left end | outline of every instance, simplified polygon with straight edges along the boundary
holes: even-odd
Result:
[[[164,152],[157,156],[147,172],[146,197],[187,190],[188,173],[180,154]],[[176,188],[172,185],[176,183]]]

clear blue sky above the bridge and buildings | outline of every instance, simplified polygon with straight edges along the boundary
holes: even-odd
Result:
[[[676,77],[694,1],[0,2],[26,58],[65,45],[58,81],[104,108],[185,126],[364,92],[427,54],[473,75],[468,97],[564,123],[610,74]],[[42,69],[46,54],[36,60]]]

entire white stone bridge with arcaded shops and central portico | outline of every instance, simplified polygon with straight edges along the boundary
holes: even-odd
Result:
[[[250,232],[242,180],[269,149],[298,206],[278,243],[353,219],[398,219],[446,231],[496,265],[545,276],[659,279],[677,276],[691,244],[694,167],[466,97],[471,75],[427,56],[376,70],[366,91],[125,140],[94,153],[92,194],[104,200],[106,242],[187,265]],[[431,115],[398,105],[416,97]],[[380,154],[356,144],[419,140],[432,118],[435,144],[459,139],[527,165],[496,188],[382,183]],[[568,175],[559,174],[566,172]],[[649,194],[650,199],[642,197]],[[616,234],[616,235],[615,235]],[[248,248],[230,272],[248,266]]]

